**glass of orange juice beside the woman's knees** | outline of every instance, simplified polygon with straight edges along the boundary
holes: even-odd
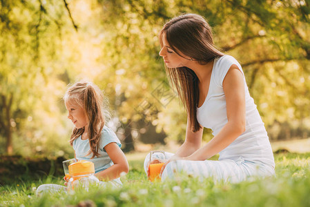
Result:
[[[162,155],[160,155],[162,153]],[[159,180],[160,170],[166,161],[166,154],[164,151],[153,150],[150,153],[150,165],[148,166],[148,179],[151,181]]]

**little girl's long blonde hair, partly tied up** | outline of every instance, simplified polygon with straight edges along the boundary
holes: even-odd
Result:
[[[99,140],[101,131],[105,124],[105,114],[108,115],[107,110],[104,109],[104,94],[94,83],[82,81],[70,86],[64,95],[65,103],[70,101],[72,104],[77,104],[84,109],[85,115],[89,121],[88,124],[88,140],[90,150],[88,155],[92,154],[91,159],[99,156]],[[73,128],[70,137],[70,144],[83,134],[85,127]]]

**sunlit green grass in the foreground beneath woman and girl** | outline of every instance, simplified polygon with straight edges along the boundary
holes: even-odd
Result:
[[[211,179],[150,183],[143,160],[130,161],[122,188],[91,188],[87,193],[35,196],[40,184],[62,184],[58,177],[18,181],[0,187],[0,206],[310,206],[310,154],[275,155],[277,177],[240,184]]]

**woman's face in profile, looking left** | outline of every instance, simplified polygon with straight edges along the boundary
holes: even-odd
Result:
[[[184,67],[188,64],[188,61],[190,61],[189,57],[186,57],[186,55],[183,55],[182,52],[177,51],[180,55],[177,55],[175,51],[171,49],[169,46],[167,40],[166,40],[166,34],[162,35],[162,50],[159,52],[159,56],[161,56],[164,59],[164,62],[168,68],[179,68]],[[184,58],[185,57],[185,58]]]

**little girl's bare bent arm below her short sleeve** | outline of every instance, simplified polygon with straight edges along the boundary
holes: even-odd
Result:
[[[106,170],[97,172],[95,176],[98,177],[99,180],[109,181],[120,177],[122,172],[128,173],[128,161],[124,155],[124,152],[119,148],[119,146],[117,146],[115,142],[107,144],[104,147],[104,150],[106,150],[114,165],[110,166]]]

